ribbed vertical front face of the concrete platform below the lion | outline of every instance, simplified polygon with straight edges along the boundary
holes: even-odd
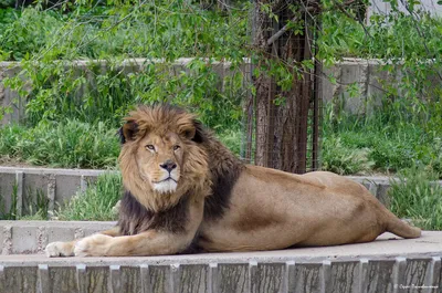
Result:
[[[0,293],[436,293],[441,273],[440,258],[169,265],[101,262],[2,263]]]

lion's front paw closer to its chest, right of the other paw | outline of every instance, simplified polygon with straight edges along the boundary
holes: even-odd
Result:
[[[93,234],[75,243],[75,257],[105,257],[110,249],[113,238],[104,234]]]

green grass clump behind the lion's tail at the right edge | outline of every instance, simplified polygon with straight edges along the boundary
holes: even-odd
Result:
[[[401,171],[399,180],[391,180],[390,209],[400,218],[409,218],[425,230],[442,229],[442,187],[438,177],[422,167]]]

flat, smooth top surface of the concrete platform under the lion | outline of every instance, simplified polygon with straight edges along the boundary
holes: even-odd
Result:
[[[359,260],[359,259],[394,259],[396,257],[432,258],[442,255],[442,232],[423,231],[418,239],[400,239],[391,233],[383,233],[376,241],[369,243],[346,244],[324,248],[296,248],[257,252],[225,252],[200,253],[181,255],[162,255],[145,258],[46,258],[42,254],[11,254],[1,255],[1,263],[8,265],[20,264],[23,261],[31,265],[41,262],[65,265],[85,263],[102,264],[160,264],[170,265],[198,263],[234,263],[234,262],[286,262],[291,260],[312,262],[317,260]]]

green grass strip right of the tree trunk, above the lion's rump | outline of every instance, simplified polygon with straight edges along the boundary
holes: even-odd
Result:
[[[391,109],[371,117],[326,115],[323,167],[338,174],[396,174],[425,166],[442,178],[442,125],[401,117]]]

